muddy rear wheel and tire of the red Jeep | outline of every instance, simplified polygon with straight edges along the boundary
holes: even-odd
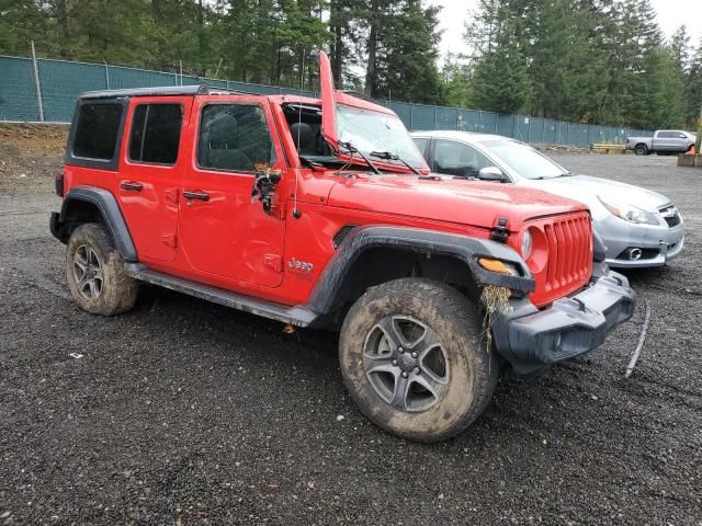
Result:
[[[110,232],[100,224],[81,225],[71,233],[66,277],[78,306],[92,315],[126,312],[136,301],[138,282],[127,275]]]

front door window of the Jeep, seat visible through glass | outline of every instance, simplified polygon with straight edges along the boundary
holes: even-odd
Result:
[[[263,108],[256,104],[207,104],[200,117],[197,164],[214,170],[250,172],[275,163],[275,150]]]

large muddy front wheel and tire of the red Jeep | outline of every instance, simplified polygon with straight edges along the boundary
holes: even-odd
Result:
[[[480,339],[477,309],[458,290],[422,278],[369,289],[341,329],[341,373],[354,402],[389,433],[438,442],[489,403],[497,355]]]

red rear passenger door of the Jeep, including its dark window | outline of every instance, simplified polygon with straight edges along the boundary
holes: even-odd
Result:
[[[190,96],[129,102],[117,198],[139,260],[176,259],[178,187],[186,165],[181,135],[191,105]]]

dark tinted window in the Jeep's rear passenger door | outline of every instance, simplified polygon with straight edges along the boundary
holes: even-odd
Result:
[[[180,104],[136,106],[129,135],[129,160],[174,164],[182,124],[183,108]]]

